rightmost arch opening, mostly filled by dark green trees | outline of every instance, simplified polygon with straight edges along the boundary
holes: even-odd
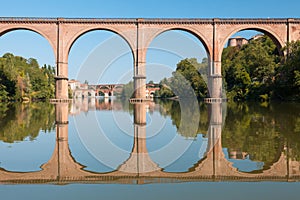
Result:
[[[242,29],[227,38],[221,61],[228,99],[268,101],[282,61],[282,42],[257,28]]]

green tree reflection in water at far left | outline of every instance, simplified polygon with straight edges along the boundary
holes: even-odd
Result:
[[[0,140],[7,143],[33,140],[40,131],[55,128],[55,108],[45,102],[0,104]]]

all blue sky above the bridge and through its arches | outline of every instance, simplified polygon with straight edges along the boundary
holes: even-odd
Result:
[[[298,0],[14,0],[1,2],[1,17],[69,17],[69,18],[299,18],[300,1]],[[176,37],[181,37],[186,53],[176,54],[182,49],[173,47]],[[114,45],[120,46],[124,41],[118,36],[105,31],[87,33],[74,44],[69,57],[69,77],[88,79],[81,72],[86,71],[91,55],[95,52],[105,52],[101,49],[103,44],[114,38]],[[173,38],[173,41],[170,39]],[[168,40],[169,39],[169,40]],[[175,42],[174,42],[175,41]],[[192,42],[191,42],[192,41]],[[192,44],[194,41],[194,44]],[[118,43],[119,42],[119,43]],[[196,45],[195,45],[196,44]],[[182,33],[165,33],[156,38],[152,49],[147,54],[147,74],[153,76],[149,79],[158,81],[162,76],[170,75],[175,69],[176,63],[184,57],[196,57],[201,61],[205,57],[205,51],[201,43],[195,41],[193,36]],[[171,47],[168,47],[170,45]],[[189,46],[190,45],[190,46]],[[124,46],[124,48],[126,48]],[[164,51],[157,50],[163,48]],[[156,51],[155,51],[156,49]],[[38,34],[29,31],[14,31],[0,37],[0,55],[12,52],[15,55],[26,58],[37,58],[40,64],[55,65],[53,50],[48,42]],[[175,54],[174,54],[175,52]],[[94,56],[95,57],[95,56]],[[130,53],[117,60],[107,61],[105,67],[100,60],[92,60],[97,63],[93,67],[105,68],[105,72],[99,73],[92,82],[120,82],[127,81],[132,76],[132,56]],[[122,70],[120,70],[122,66]],[[152,66],[152,67],[151,67]],[[101,68],[100,67],[100,68]],[[98,68],[97,68],[98,69]],[[164,69],[166,74],[160,73]],[[151,72],[151,70],[154,70]],[[87,70],[88,71],[88,70]],[[93,70],[91,70],[93,71]],[[148,73],[149,71],[149,73]],[[119,73],[117,73],[119,72]],[[124,77],[127,78],[124,78]],[[148,79],[148,80],[149,80]]]

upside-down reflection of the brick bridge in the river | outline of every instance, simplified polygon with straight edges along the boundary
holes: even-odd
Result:
[[[51,159],[37,172],[0,171],[0,183],[123,183],[144,184],[191,181],[299,181],[300,163],[283,149],[278,160],[261,173],[239,172],[222,151],[222,104],[210,104],[210,124],[205,157],[188,172],[165,172],[154,163],[146,147],[146,105],[134,105],[134,145],[130,157],[117,170],[89,172],[71,155],[68,144],[68,104],[56,104],[57,140]]]

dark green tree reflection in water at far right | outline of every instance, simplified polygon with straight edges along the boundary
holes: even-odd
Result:
[[[289,146],[289,157],[300,160],[299,104],[229,103],[222,146],[243,152],[269,169]],[[287,152],[286,152],[287,153]]]

